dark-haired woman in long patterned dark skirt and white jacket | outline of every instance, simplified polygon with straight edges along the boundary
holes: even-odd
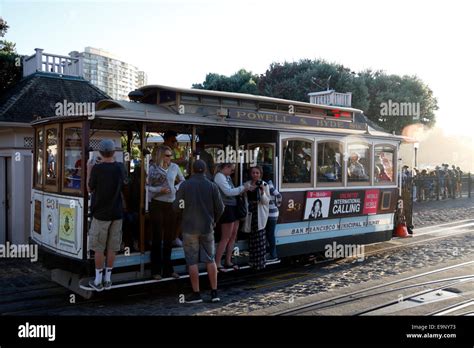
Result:
[[[259,166],[250,168],[251,180],[245,184],[255,186],[254,191],[246,192],[249,214],[245,221],[244,231],[250,232],[249,264],[254,270],[265,268],[265,227],[270,207],[270,188],[261,180],[263,169]]]

